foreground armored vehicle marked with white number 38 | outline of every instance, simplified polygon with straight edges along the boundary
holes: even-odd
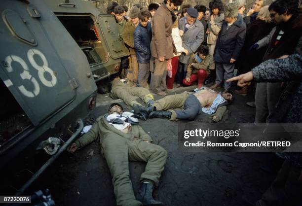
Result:
[[[1,0],[0,12],[4,185],[8,175],[29,171],[30,165],[43,172],[64,151],[82,130],[81,119],[95,106],[97,87],[87,57],[44,2]],[[37,148],[53,155],[42,170],[30,159],[40,153]],[[39,175],[36,171],[29,172],[34,173],[31,181]]]

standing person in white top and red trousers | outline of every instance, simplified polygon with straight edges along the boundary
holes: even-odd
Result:
[[[177,55],[174,54],[174,57],[172,58],[172,76],[167,76],[167,88],[173,89],[173,83],[175,79],[175,75],[178,68],[178,57],[182,54],[182,52],[186,53],[188,55],[188,50],[185,49],[182,44],[182,38],[179,33],[178,29],[178,19],[177,16],[174,13],[172,14],[172,20],[173,20],[173,28],[172,28],[172,38],[174,41],[174,45],[176,47]],[[182,34],[181,34],[182,35]]]

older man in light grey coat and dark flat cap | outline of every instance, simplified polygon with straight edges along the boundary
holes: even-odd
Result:
[[[193,54],[203,41],[203,25],[200,21],[196,21],[198,12],[194,8],[187,9],[186,17],[179,20],[180,34],[183,34],[183,47],[189,51],[189,53],[179,56],[178,71],[176,74],[177,86],[183,83],[183,79],[186,78],[186,72],[190,55]]]

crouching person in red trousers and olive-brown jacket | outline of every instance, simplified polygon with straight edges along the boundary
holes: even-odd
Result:
[[[205,78],[210,74],[210,60],[209,48],[206,45],[201,45],[199,51],[190,57],[186,79],[183,80],[183,84],[190,86],[197,80],[197,88],[202,87]]]

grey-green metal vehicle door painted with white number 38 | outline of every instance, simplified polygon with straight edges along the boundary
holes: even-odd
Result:
[[[35,5],[0,4],[0,78],[37,126],[73,101],[77,81],[64,68]],[[5,9],[8,4],[14,9]]]

